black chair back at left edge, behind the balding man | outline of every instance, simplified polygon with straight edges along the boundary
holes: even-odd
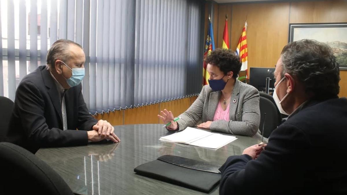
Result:
[[[8,131],[8,124],[10,121],[10,117],[12,115],[14,102],[8,99],[7,97],[0,96],[0,142],[5,141],[5,136]]]

